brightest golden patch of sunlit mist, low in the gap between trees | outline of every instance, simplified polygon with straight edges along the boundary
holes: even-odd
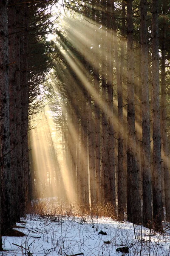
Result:
[[[74,201],[75,191],[62,152],[62,138],[48,105],[31,121],[31,155],[37,197]]]

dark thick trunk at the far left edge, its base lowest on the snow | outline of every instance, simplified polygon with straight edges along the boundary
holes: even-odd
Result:
[[[0,1],[0,170],[1,170],[1,232],[4,235],[11,221],[11,161],[9,135],[8,85],[8,13],[6,0]],[[2,245],[1,245],[2,247]]]

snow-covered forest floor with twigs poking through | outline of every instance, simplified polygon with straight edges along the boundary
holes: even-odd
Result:
[[[0,255],[170,255],[170,235],[167,233],[161,235],[127,221],[121,223],[104,217],[83,218],[61,215],[51,217],[27,215],[23,220],[26,223],[17,225],[25,228],[17,230],[22,231],[26,236],[3,237],[3,248],[7,251],[0,252]],[[124,249],[121,249],[122,247]]]

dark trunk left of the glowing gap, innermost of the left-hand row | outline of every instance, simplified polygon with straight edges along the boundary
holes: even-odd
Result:
[[[28,202],[28,102],[29,102],[29,86],[28,86],[28,6],[25,1],[17,7],[19,12],[20,23],[20,85],[17,90],[21,90],[18,94],[18,125],[21,125],[21,131],[18,133],[18,141],[21,143],[18,156],[18,179],[19,179],[19,195],[20,195],[20,214],[23,216],[26,213],[26,204]],[[18,13],[17,13],[18,15]],[[17,54],[19,54],[17,52]],[[19,78],[19,77],[18,77]],[[21,103],[20,103],[21,102]],[[20,105],[21,104],[21,105]],[[21,136],[21,139],[20,139]],[[22,153],[21,153],[22,150]],[[21,154],[21,155],[20,155]]]

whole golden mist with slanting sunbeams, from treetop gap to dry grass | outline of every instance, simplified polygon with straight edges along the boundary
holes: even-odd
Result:
[[[60,21],[62,21],[64,32],[56,32],[56,38],[54,39],[53,35],[53,41],[51,41],[57,58],[59,56],[59,61],[53,60],[54,70],[50,75],[50,87],[53,90],[52,99],[56,99],[59,95],[62,100],[59,103],[59,112],[51,111],[51,108],[46,105],[42,112],[38,113],[31,121],[31,127],[33,127],[30,131],[34,166],[33,186],[36,187],[37,197],[55,197],[58,201],[78,203],[85,202],[87,199],[88,202],[91,202],[93,188],[90,177],[89,137],[94,132],[95,141],[96,127],[94,125],[94,130],[90,130],[88,127],[90,121],[85,115],[91,115],[91,123],[96,124],[95,111],[96,106],[98,107],[99,140],[102,141],[102,119],[104,116],[108,127],[111,126],[113,131],[114,154],[117,157],[118,143],[115,139],[118,140],[119,137],[119,119],[117,115],[118,85],[115,74],[117,70],[120,70],[120,50],[121,47],[126,47],[126,40],[117,35],[116,31],[113,32],[113,29],[110,30],[101,23],[82,15],[64,17],[62,14]],[[114,49],[114,43],[117,45],[117,49]],[[115,50],[119,52],[119,67],[116,67]],[[111,68],[109,69],[110,64]],[[126,64],[122,70],[122,76],[126,77]],[[95,75],[98,76],[98,87],[94,85]],[[109,102],[108,84],[110,81],[113,88],[113,108]],[[105,96],[103,96],[103,84],[105,84]],[[135,84],[135,86],[137,85]],[[126,139],[127,82],[125,79],[122,81],[122,90],[123,136]],[[137,95],[135,97],[138,98]],[[139,107],[135,106],[135,108]],[[56,119],[56,115],[60,118]],[[136,120],[136,131],[141,135],[142,122]],[[108,132],[107,137],[109,136]],[[141,139],[137,136],[136,138],[136,140]],[[95,179],[97,179],[97,172],[99,172],[99,176],[102,175],[101,141],[99,142],[100,166],[98,170],[94,168],[93,171]],[[94,162],[96,161],[96,144],[94,142],[92,145]],[[136,145],[139,147],[139,151],[139,143]],[[85,170],[86,173],[84,173]],[[115,177],[117,183],[117,174]],[[97,186],[96,183],[94,186]],[[102,177],[99,177],[98,186],[100,190]]]

